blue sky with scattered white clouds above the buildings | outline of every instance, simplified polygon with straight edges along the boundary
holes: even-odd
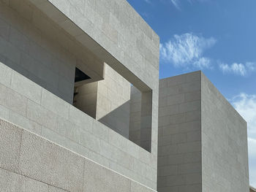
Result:
[[[128,0],[160,37],[160,79],[202,70],[247,121],[256,187],[256,0]]]

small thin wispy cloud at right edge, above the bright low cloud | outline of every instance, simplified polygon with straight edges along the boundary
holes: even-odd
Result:
[[[233,63],[231,65],[228,64],[219,64],[219,69],[224,73],[233,73],[241,76],[246,76],[249,72],[253,72],[256,69],[255,63],[246,62],[245,64],[237,64]]]

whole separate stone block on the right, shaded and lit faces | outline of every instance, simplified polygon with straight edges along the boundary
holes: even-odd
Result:
[[[159,82],[157,185],[249,191],[246,122],[202,72]]]

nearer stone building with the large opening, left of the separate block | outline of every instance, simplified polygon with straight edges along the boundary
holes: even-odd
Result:
[[[80,160],[74,169],[80,169],[79,175],[84,159],[100,165],[97,169],[102,172],[95,170],[94,179],[110,175],[94,191],[120,191],[109,183],[118,177],[125,180],[124,191],[132,191],[132,185],[136,191],[156,190],[159,37],[127,1],[3,0],[0,28],[1,157],[14,158],[7,155],[12,150],[12,134],[7,132],[13,127],[19,132],[15,138],[21,138],[15,146],[23,146],[24,133],[31,131],[35,140],[48,143],[45,147],[56,145],[56,153],[65,150],[65,158],[76,153]],[[77,75],[81,80],[76,81]],[[143,97],[140,145],[129,140],[131,84]],[[27,149],[28,157],[43,158],[44,147],[34,146]],[[80,177],[70,183],[64,180],[75,170],[56,171],[64,175],[53,178],[40,173],[38,161],[21,162],[20,155],[14,155],[17,169],[1,158],[2,177],[25,180],[24,185],[41,182],[48,188],[83,191],[81,184],[68,186],[72,181],[80,183]],[[45,164],[67,168],[61,156],[48,155]],[[23,163],[28,170],[21,168]],[[12,184],[6,186],[10,191],[23,188]]]

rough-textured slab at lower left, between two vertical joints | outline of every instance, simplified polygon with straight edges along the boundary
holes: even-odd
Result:
[[[20,172],[67,191],[82,191],[84,160],[28,132],[20,148]]]

